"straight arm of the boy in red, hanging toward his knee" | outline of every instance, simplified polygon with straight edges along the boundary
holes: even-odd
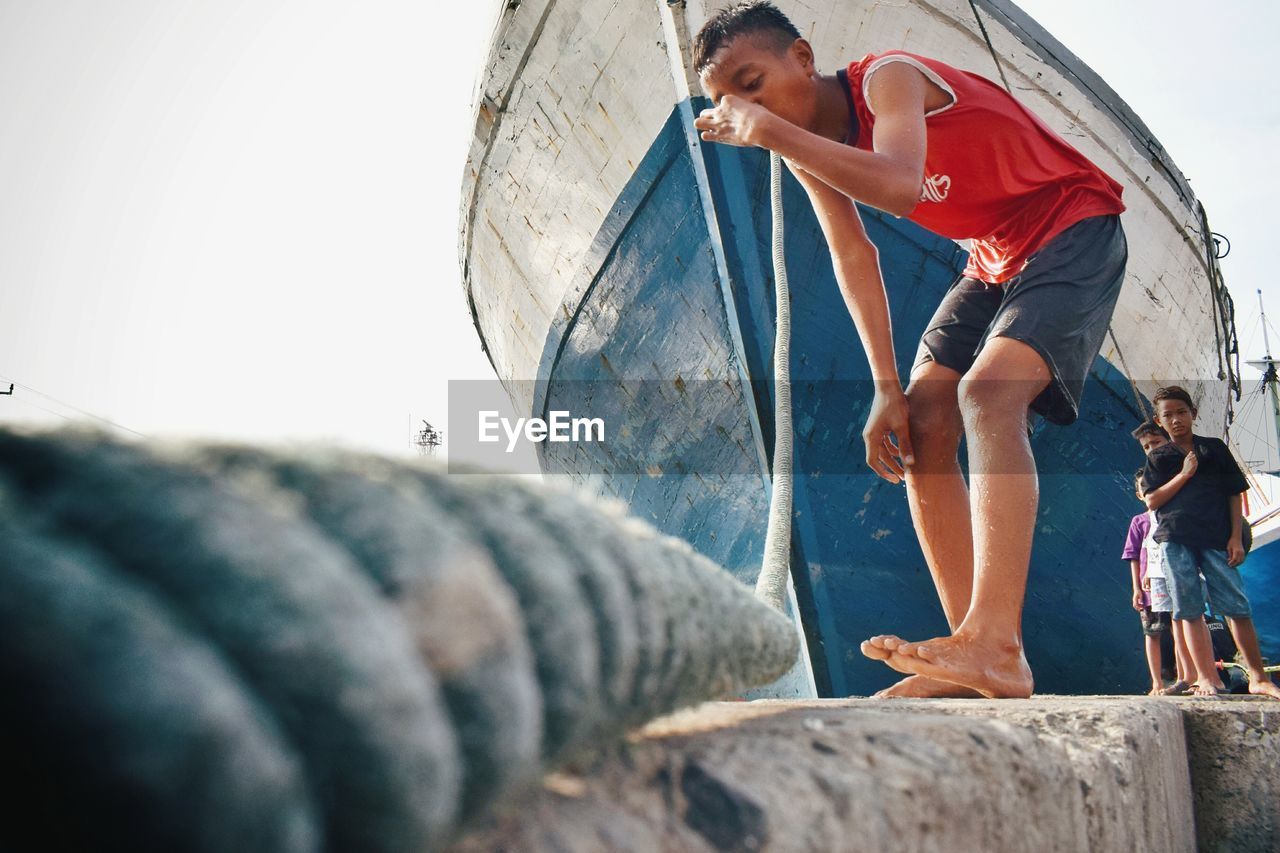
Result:
[[[804,169],[791,163],[787,165],[813,202],[818,224],[831,248],[836,282],[854,319],[876,383],[876,397],[863,428],[867,465],[883,479],[897,483],[905,474],[902,464],[911,465],[915,460],[908,429],[906,394],[902,393],[893,357],[888,297],[881,277],[879,254],[867,237],[858,209],[847,196]],[[897,438],[897,447],[890,441],[890,434]],[[901,457],[902,462],[895,457]]]

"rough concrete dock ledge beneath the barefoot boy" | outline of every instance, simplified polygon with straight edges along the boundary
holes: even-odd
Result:
[[[453,849],[1280,850],[1280,702],[713,702]]]

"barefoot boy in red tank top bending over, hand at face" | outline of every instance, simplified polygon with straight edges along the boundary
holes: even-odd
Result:
[[[977,74],[902,51],[819,74],[809,42],[762,0],[716,13],[694,65],[716,104],[695,122],[703,140],[778,152],[809,193],[876,383],[867,464],[906,483],[951,625],[950,637],[863,643],[908,675],[878,695],[1030,695],[1021,610],[1038,483],[1027,412],[1076,418],[1124,280],[1120,184]],[[906,391],[854,201],[972,241]]]

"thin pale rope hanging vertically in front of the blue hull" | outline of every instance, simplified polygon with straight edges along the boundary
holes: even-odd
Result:
[[[773,282],[777,295],[777,333],[773,338],[773,494],[769,529],[764,535],[764,565],[755,597],[774,610],[786,610],[791,570],[791,296],[782,245],[782,159],[769,154],[773,209]]]

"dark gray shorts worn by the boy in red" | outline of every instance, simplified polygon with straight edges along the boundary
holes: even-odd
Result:
[[[988,338],[1021,341],[1044,359],[1051,374],[1032,411],[1055,424],[1073,423],[1120,298],[1128,259],[1120,216],[1091,216],[1048,241],[1004,284],[961,275],[920,337],[911,371],[936,361],[963,375]]]

